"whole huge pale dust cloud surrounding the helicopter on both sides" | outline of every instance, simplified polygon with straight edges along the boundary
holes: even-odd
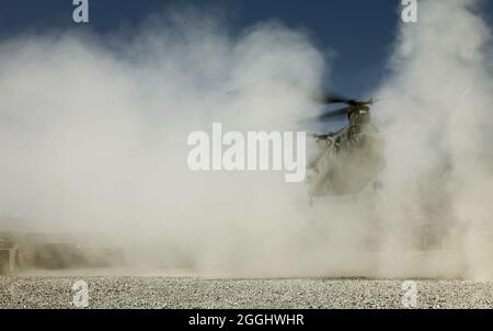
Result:
[[[3,39],[0,215],[93,233],[164,273],[492,278],[488,240],[474,239],[493,230],[491,163],[477,157],[491,155],[493,104],[480,8],[421,1],[420,22],[399,26],[392,75],[372,93],[389,98],[374,106],[385,189],[312,207],[284,173],[186,164],[187,135],[213,122],[305,129],[307,91],[330,71],[307,31],[270,21],[231,33],[220,16],[180,9],[131,32]],[[424,244],[423,229],[442,243]]]

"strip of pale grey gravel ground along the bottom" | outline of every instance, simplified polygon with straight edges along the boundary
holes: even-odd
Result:
[[[205,279],[154,276],[1,276],[1,308],[403,308],[403,281]],[[416,281],[419,308],[490,308],[493,283]]]

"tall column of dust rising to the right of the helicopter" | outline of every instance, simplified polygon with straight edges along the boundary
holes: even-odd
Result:
[[[383,274],[493,277],[493,48],[483,4],[421,1],[375,92],[388,98],[375,112],[387,139],[383,246],[419,251],[383,260]]]

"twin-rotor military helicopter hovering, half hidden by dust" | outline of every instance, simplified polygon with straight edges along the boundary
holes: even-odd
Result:
[[[370,116],[370,105],[376,100],[356,101],[329,95],[316,98],[316,101],[347,106],[303,122],[324,123],[345,114],[348,125],[335,133],[312,135],[318,152],[307,166],[310,201],[330,195],[356,195],[371,182],[374,190],[381,189],[378,175],[386,166],[385,140]]]

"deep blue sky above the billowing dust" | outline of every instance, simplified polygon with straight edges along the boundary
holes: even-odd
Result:
[[[355,98],[366,96],[385,75],[401,8],[400,0],[90,0],[88,27],[71,21],[71,0],[2,0],[0,38],[54,27],[104,34],[180,2],[223,9],[233,31],[268,19],[309,30],[322,52],[336,53],[328,85]],[[493,1],[486,2],[491,18]]]

